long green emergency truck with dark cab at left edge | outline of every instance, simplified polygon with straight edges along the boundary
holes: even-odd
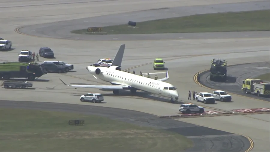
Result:
[[[0,63],[0,78],[27,78],[34,81],[35,78],[47,74],[46,70],[36,62],[2,62]]]

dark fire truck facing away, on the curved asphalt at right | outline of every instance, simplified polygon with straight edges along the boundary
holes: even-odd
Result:
[[[226,81],[227,79],[227,61],[223,59],[213,59],[211,61],[210,80]]]

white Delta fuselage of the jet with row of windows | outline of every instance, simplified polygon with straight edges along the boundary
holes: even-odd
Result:
[[[112,68],[88,66],[87,70],[91,74],[95,75],[95,77],[103,81],[110,82],[111,84],[130,86],[138,90],[143,90],[164,97],[170,98],[179,97],[176,88],[169,83],[154,80],[136,74],[131,74],[124,71],[119,71],[113,68],[113,66],[111,67]],[[101,70],[100,74],[95,73],[95,70],[97,68]]]

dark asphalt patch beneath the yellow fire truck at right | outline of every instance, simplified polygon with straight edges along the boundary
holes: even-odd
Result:
[[[199,75],[200,84],[218,90],[226,90],[231,93],[256,98],[260,100],[270,101],[269,97],[261,97],[252,94],[245,94],[241,90],[242,81],[247,78],[256,78],[261,74],[270,72],[269,62],[258,62],[250,64],[233,65],[227,68],[227,81],[226,82],[215,82],[210,81],[210,72],[205,71]]]

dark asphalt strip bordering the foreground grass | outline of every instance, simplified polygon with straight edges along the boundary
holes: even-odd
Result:
[[[26,108],[91,114],[140,126],[165,129],[190,138],[194,142],[194,147],[187,151],[243,151],[250,147],[248,139],[241,135],[210,129],[204,126],[198,126],[173,119],[160,119],[155,115],[138,111],[89,105],[5,100],[0,100],[0,106],[1,108]]]

